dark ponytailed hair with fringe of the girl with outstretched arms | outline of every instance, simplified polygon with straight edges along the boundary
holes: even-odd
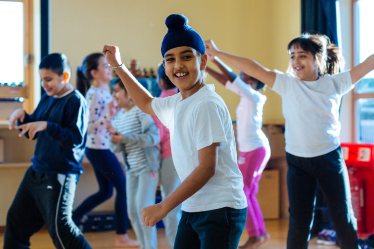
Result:
[[[301,47],[302,50],[313,54],[318,63],[319,75],[323,76],[326,73],[335,74],[343,71],[344,58],[337,45],[332,43],[328,36],[304,33],[288,43],[288,53],[293,46]],[[287,71],[293,71],[291,65],[289,65]]]

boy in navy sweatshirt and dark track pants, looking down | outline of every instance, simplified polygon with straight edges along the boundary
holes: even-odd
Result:
[[[37,108],[31,115],[17,109],[9,119],[9,129],[20,129],[19,137],[37,138],[37,144],[33,165],[8,211],[4,249],[29,248],[31,235],[43,225],[56,248],[91,249],[72,220],[76,182],[83,173],[87,103],[69,83],[65,54],[45,56],[39,74],[45,94]]]

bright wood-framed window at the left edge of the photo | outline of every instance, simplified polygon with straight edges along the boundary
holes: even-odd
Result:
[[[0,0],[0,98],[33,110],[32,0]]]

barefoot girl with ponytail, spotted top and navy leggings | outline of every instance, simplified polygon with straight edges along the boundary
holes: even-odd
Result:
[[[106,123],[111,119],[112,95],[108,82],[112,79],[112,69],[102,53],[92,53],[84,58],[76,71],[76,86],[86,96],[90,107],[90,122],[87,131],[86,156],[92,163],[99,185],[97,193],[89,196],[73,212],[73,220],[79,221],[85,213],[115,197],[114,247],[139,247],[136,240],[127,234],[126,177],[117,157],[109,149],[110,134]]]

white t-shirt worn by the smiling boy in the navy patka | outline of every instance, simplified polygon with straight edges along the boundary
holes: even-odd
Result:
[[[239,171],[230,113],[223,99],[206,85],[182,100],[181,93],[155,98],[152,109],[169,129],[171,154],[183,181],[199,165],[198,151],[220,142],[215,175],[182,203],[186,212],[201,212],[247,206],[243,176]]]

